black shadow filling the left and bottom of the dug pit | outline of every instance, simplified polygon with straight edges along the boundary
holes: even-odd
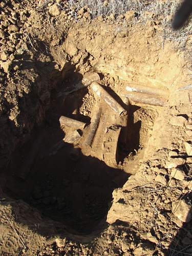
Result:
[[[33,65],[45,67],[39,62]],[[71,74],[68,84],[76,79],[73,72]],[[37,78],[36,82],[39,80]],[[61,87],[65,87],[62,82]],[[89,117],[76,111],[87,92],[84,88],[67,98],[58,98],[55,91],[50,108],[46,107],[50,102],[47,92],[41,93],[39,99],[32,91],[19,100],[20,116],[26,117],[26,142],[17,146],[10,157],[8,167],[2,173],[4,182],[1,185],[4,193],[18,202],[19,206],[15,205],[15,201],[9,202],[16,221],[42,235],[60,235],[66,229],[75,234],[101,232],[106,225],[113,190],[122,187],[129,177],[122,170],[111,168],[95,157],[84,156],[73,144],[63,143],[56,154],[51,150],[64,137],[58,121],[61,115],[90,122]],[[40,115],[39,120],[45,120],[42,126],[34,125],[32,135],[29,135],[28,128],[30,114],[33,118]],[[13,121],[10,120],[9,124],[18,132]]]

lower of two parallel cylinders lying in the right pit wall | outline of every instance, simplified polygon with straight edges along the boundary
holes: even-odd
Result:
[[[166,101],[164,99],[158,98],[158,97],[152,97],[149,94],[144,94],[144,93],[135,93],[135,92],[126,92],[125,95],[123,95],[126,98],[129,98],[129,100],[138,102],[138,103],[143,103],[147,105],[154,105],[154,106],[164,106]]]

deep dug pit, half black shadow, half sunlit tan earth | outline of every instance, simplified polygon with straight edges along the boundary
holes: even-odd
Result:
[[[157,117],[154,106],[115,100],[125,115],[95,96],[91,87],[56,96],[46,124],[13,154],[5,191],[59,222],[60,230],[102,230],[113,190],[136,172]]]

